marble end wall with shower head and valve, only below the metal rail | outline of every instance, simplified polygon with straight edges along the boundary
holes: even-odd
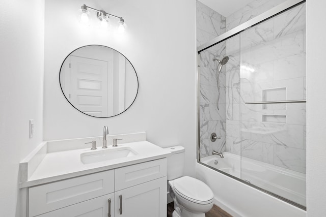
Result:
[[[224,151],[226,148],[226,68],[219,76],[220,89],[217,85],[218,63],[213,58],[225,56],[226,43],[202,51],[199,55],[199,125],[201,157],[211,155],[212,150]],[[220,99],[218,101],[218,94]],[[221,139],[210,141],[211,133]]]

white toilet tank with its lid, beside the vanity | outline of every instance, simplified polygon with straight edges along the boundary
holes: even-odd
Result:
[[[167,158],[168,180],[173,180],[181,177],[184,167],[184,147],[178,145],[165,149],[172,153],[172,155]]]

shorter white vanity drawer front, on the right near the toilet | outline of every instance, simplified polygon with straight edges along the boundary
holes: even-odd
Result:
[[[115,170],[115,191],[167,176],[167,159],[159,159]]]

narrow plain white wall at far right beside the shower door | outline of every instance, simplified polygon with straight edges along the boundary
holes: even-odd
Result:
[[[307,1],[307,215],[326,215],[325,1]]]

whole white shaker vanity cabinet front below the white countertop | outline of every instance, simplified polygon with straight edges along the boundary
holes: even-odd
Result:
[[[166,216],[167,159],[29,188],[29,217]]]

